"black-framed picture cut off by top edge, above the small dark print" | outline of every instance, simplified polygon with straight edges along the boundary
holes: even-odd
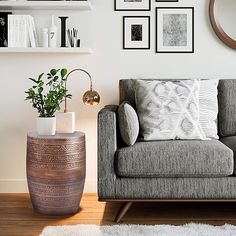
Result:
[[[115,0],[115,11],[150,11],[151,0]]]

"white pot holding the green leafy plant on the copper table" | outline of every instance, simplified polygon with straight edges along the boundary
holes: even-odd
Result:
[[[55,135],[56,117],[38,117],[37,131],[39,135]]]

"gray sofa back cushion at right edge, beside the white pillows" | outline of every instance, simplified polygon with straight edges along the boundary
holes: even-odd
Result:
[[[218,131],[221,137],[236,135],[236,80],[220,80]]]

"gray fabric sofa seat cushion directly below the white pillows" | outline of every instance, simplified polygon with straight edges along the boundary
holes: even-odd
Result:
[[[233,152],[218,140],[137,142],[115,157],[120,177],[223,177],[233,170]]]

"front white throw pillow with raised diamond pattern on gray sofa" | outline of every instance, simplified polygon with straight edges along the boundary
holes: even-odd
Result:
[[[199,80],[134,80],[144,140],[200,139]]]

